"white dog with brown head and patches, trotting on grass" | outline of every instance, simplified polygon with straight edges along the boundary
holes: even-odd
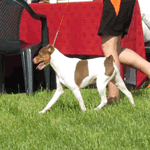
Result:
[[[86,111],[80,88],[96,82],[98,92],[101,96],[101,103],[94,110],[99,110],[107,104],[106,86],[113,80],[115,85],[129,98],[133,106],[132,94],[126,88],[118,68],[114,63],[113,56],[99,57],[94,59],[81,60],[69,58],[60,53],[52,45],[47,45],[39,51],[38,56],[33,59],[35,64],[40,63],[37,69],[42,70],[50,64],[56,72],[57,89],[47,106],[40,111],[45,113],[64,93],[64,88],[68,87],[79,101],[82,111]]]

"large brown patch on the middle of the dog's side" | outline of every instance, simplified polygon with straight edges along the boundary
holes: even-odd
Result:
[[[85,77],[89,75],[88,70],[88,61],[81,60],[77,63],[76,70],[75,70],[75,83],[80,86],[81,82]]]

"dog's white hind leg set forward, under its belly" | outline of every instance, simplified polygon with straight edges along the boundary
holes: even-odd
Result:
[[[97,78],[96,84],[97,84],[97,90],[100,94],[101,97],[101,103],[94,109],[94,110],[99,110],[103,108],[107,104],[107,97],[106,97],[106,85],[109,82],[109,77],[104,76],[101,77],[103,80]],[[105,79],[105,80],[104,80]]]

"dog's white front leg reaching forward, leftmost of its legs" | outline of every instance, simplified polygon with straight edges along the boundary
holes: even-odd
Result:
[[[64,87],[62,84],[59,82],[59,79],[56,78],[57,80],[57,89],[55,94],[53,95],[52,99],[49,101],[49,103],[46,105],[46,107],[40,111],[39,113],[45,113],[47,110],[50,110],[52,105],[56,103],[56,101],[59,99],[59,97],[64,93]]]

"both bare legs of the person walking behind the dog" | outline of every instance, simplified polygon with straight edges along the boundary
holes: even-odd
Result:
[[[120,62],[134,67],[145,73],[150,78],[150,63],[129,48],[121,48],[121,36],[102,36],[102,49],[104,55],[113,55],[115,64],[120,70]],[[119,98],[119,90],[116,86],[109,83],[108,101],[112,102]]]

